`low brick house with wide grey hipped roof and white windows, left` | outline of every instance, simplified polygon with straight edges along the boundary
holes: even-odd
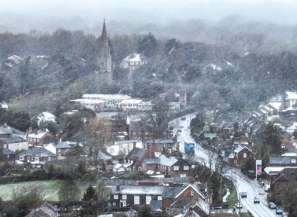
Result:
[[[24,163],[37,164],[39,162],[56,160],[57,155],[41,146],[35,146],[16,155],[16,159]]]

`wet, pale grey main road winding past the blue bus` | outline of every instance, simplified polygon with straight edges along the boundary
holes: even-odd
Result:
[[[180,118],[177,118],[173,121],[175,126],[178,126],[179,123],[183,123],[182,132],[178,133],[178,141],[180,142],[179,150],[184,153],[185,140],[193,142],[195,144],[195,159],[201,163],[201,158],[207,159],[209,153],[207,150],[199,146],[199,144],[197,144],[190,135],[190,130],[188,129],[188,126],[190,126],[190,115],[184,117],[186,117],[186,120],[182,121]],[[195,114],[191,114],[191,118],[194,117],[196,117]],[[232,181],[236,186],[238,194],[241,191],[248,192],[246,198],[240,198],[240,202],[243,204],[243,208],[240,210],[241,212],[247,212],[247,210],[249,210],[254,217],[280,216],[275,214],[275,209],[271,210],[267,207],[267,193],[265,193],[264,189],[259,183],[245,177],[243,174],[241,174],[240,169],[233,169],[232,171],[230,170],[226,176],[229,179],[232,177]],[[256,196],[260,197],[260,203],[254,203],[254,197]],[[239,209],[236,211],[239,212]]]

